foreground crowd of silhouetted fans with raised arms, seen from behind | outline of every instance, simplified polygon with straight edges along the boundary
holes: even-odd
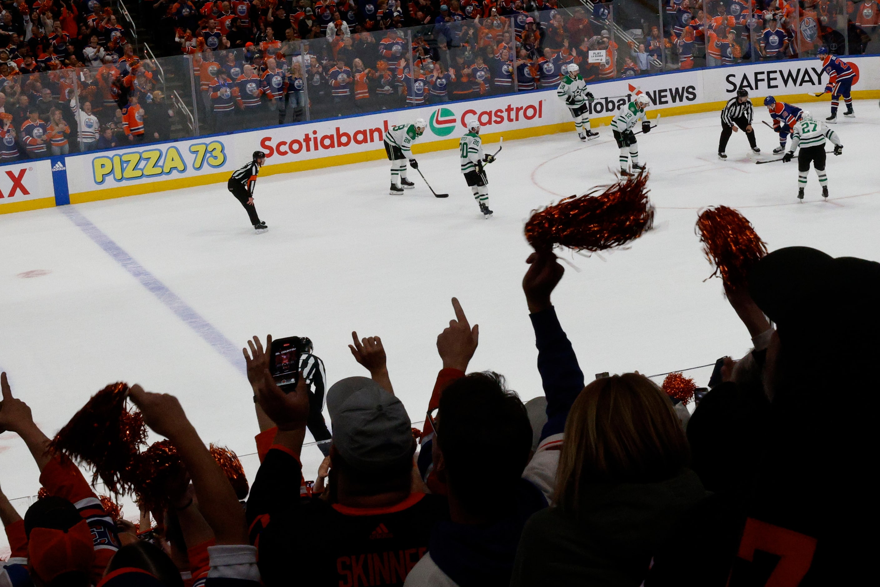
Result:
[[[880,264],[807,247],[759,260],[726,290],[753,349],[725,359],[688,416],[638,371],[588,384],[589,358],[551,301],[564,268],[549,251],[526,262],[543,397],[524,404],[502,375],[467,373],[480,327],[453,298],[436,385],[412,429],[422,413],[395,396],[381,339],[353,333],[370,378],[327,390],[332,436],[313,484],[300,455],[318,396],[304,376],[282,391],[271,337],[243,349],[260,423],[249,493],[233,488],[176,398],[133,385],[129,399],[184,467],[149,529],[115,519],[77,466],[48,450],[4,373],[0,430],[26,443],[46,495],[22,519],[0,493],[12,546],[0,584],[712,587],[870,574],[873,543],[860,529],[876,524]]]

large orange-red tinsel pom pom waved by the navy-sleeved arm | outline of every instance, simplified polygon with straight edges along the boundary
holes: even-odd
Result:
[[[598,195],[600,187],[563,198],[532,214],[525,224],[525,238],[536,251],[559,245],[594,252],[626,245],[654,224],[647,183],[648,173],[640,173]]]

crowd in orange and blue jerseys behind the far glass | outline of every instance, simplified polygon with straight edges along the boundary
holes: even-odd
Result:
[[[0,160],[169,138],[180,113],[175,119],[157,63],[137,55],[113,6],[2,6]],[[198,94],[201,134],[546,89],[569,63],[589,83],[809,56],[821,45],[832,54],[880,51],[876,0],[665,0],[648,9],[618,1],[591,11],[557,0],[144,0],[139,8],[160,55],[191,56],[165,68],[187,96]]]

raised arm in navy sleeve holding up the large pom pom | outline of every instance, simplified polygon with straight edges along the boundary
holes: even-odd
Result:
[[[525,262],[530,267],[523,278],[523,291],[535,330],[538,371],[547,399],[547,422],[541,431],[543,440],[565,429],[568,410],[583,390],[583,372],[550,302],[550,295],[565,268],[551,251],[532,253]]]

